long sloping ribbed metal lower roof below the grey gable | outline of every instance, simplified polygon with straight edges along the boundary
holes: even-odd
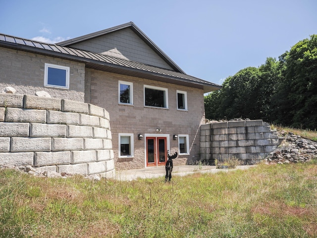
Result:
[[[204,93],[221,89],[222,86],[199,79],[182,72],[124,60],[89,51],[77,50],[57,44],[48,44],[0,33],[0,47],[74,60],[85,63],[86,67],[97,70],[141,77],[166,83],[173,83],[204,89]]]

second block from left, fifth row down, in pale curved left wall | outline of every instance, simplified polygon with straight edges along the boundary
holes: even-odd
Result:
[[[34,166],[70,164],[70,151],[35,152]]]

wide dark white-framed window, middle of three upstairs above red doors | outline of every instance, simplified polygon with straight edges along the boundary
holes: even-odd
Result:
[[[168,108],[167,88],[144,85],[144,105],[157,108]]]

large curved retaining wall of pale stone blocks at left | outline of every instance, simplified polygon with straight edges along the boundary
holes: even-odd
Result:
[[[0,93],[0,165],[111,178],[109,114],[87,103]]]

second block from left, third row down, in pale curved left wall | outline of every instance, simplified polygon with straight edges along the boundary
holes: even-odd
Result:
[[[66,137],[66,125],[30,123],[30,137]]]

